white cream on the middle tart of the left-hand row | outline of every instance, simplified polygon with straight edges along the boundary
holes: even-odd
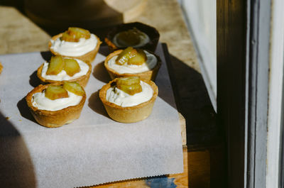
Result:
[[[41,72],[41,76],[45,79],[55,80],[55,81],[62,81],[62,80],[70,80],[70,79],[77,79],[79,77],[82,77],[83,75],[87,74],[89,70],[89,66],[86,62],[83,62],[82,60],[75,59],[79,66],[80,66],[80,72],[77,72],[72,77],[70,77],[65,70],[62,70],[56,75],[47,75],[46,71],[48,70],[48,62],[44,62],[43,64],[43,70]]]

